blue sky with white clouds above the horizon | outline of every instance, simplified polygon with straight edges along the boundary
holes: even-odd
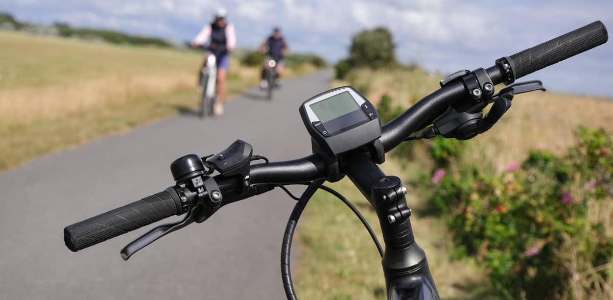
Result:
[[[459,0],[0,0],[21,21],[118,29],[191,40],[219,7],[238,45],[256,47],[280,26],[292,50],[337,61],[351,36],[386,26],[402,62],[443,74],[489,67],[495,59],[601,20],[613,28],[613,1]],[[555,91],[613,97],[613,42],[536,72]]]

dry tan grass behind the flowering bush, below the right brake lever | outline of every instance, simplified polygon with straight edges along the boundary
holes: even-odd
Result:
[[[555,92],[520,94],[489,132],[468,142],[473,162],[488,157],[496,168],[511,160],[522,161],[529,149],[541,148],[561,154],[576,143],[578,126],[604,127],[613,131],[613,101]]]

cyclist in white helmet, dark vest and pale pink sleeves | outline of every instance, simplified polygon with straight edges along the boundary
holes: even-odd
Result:
[[[226,15],[227,13],[225,9],[217,10],[213,23],[206,24],[191,42],[192,47],[198,47],[200,45],[204,45],[204,43],[206,43],[210,37],[211,41],[208,44],[207,51],[204,54],[204,63],[202,64],[202,67],[206,66],[209,55],[215,55],[215,60],[217,61],[217,99],[215,100],[213,113],[216,115],[223,114],[226,74],[228,64],[230,62],[229,52],[234,50],[236,47],[236,33],[234,31],[234,24],[226,21]],[[200,70],[199,74],[202,76],[202,72],[200,72]],[[198,82],[200,83],[200,80]]]

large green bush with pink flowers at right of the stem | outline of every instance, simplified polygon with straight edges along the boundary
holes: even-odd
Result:
[[[429,179],[455,256],[476,257],[506,298],[613,297],[613,138],[577,137],[564,156],[533,150],[500,174],[451,165]]]

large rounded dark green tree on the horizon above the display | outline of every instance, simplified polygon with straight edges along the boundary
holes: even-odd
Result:
[[[352,67],[380,67],[398,64],[392,33],[379,27],[358,32],[351,39],[349,61]]]

